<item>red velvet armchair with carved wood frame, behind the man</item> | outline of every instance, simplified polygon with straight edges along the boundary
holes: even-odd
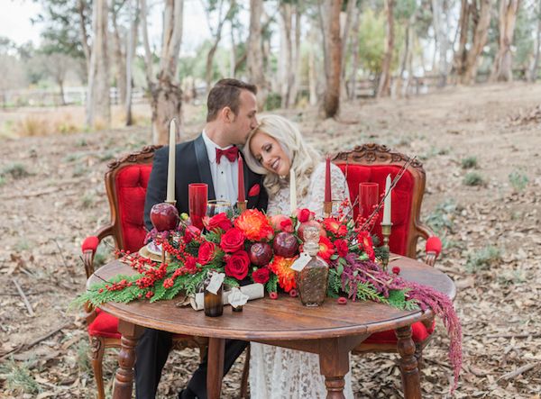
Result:
[[[146,231],[143,223],[146,187],[151,175],[154,151],[160,147],[145,147],[142,151],[115,160],[105,173],[105,191],[111,210],[111,222],[96,234],[87,237],[82,245],[83,263],[87,278],[94,273],[94,256],[99,243],[107,236],[115,240],[116,249],[137,251],[142,247]],[[106,348],[120,348],[118,320],[87,305],[87,331],[92,350],[92,368],[96,378],[97,397],[105,398],[102,360]],[[173,348],[198,348],[201,358],[206,353],[207,339],[176,335]]]

